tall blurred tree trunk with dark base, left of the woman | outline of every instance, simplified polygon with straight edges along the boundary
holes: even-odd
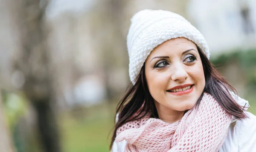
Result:
[[[47,0],[22,0],[20,12],[22,50],[14,69],[22,71],[22,90],[37,114],[41,146],[45,152],[60,152],[58,126],[52,106],[53,89],[44,14]]]

